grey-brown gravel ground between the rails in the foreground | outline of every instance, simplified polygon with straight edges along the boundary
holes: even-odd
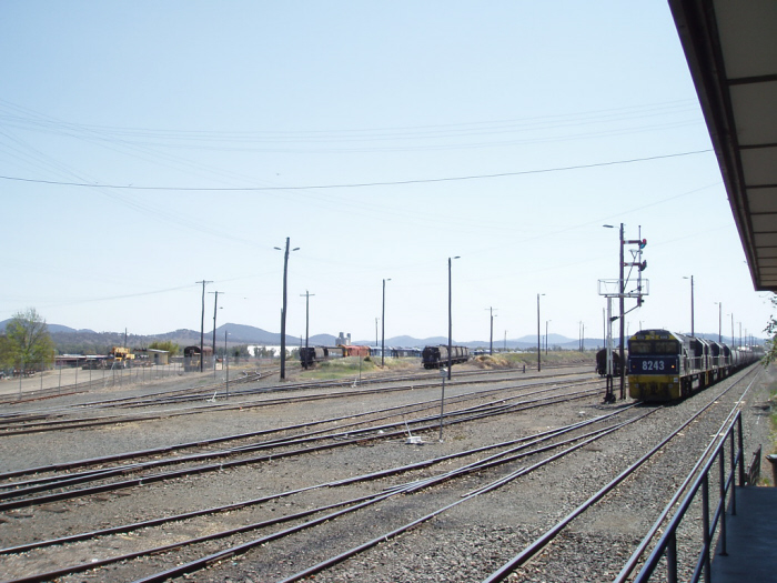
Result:
[[[549,375],[553,371],[543,373]],[[771,451],[768,415],[769,390],[774,383],[774,370],[763,372],[743,404],[745,449],[748,456],[759,444],[764,445],[765,454]],[[594,442],[575,454],[571,461],[553,462],[500,490],[458,504],[397,537],[384,541],[356,557],[316,574],[315,581],[482,581],[583,502],[593,491],[640,456],[665,431],[679,425],[682,419],[687,419],[690,410],[713,400],[724,384],[725,382],[719,383],[690,400],[656,412],[652,415],[649,424],[635,424],[630,430]],[[134,390],[149,392],[151,389],[144,386]],[[446,395],[472,390],[473,386],[457,388],[454,382],[446,386]],[[130,391],[132,390],[125,388],[121,394]],[[120,393],[115,390],[111,393],[118,394]],[[434,399],[435,395],[438,398],[438,389],[415,389],[387,393],[380,398],[360,396],[263,409],[250,408],[250,400],[246,398],[245,408],[238,411],[203,412],[57,434],[6,436],[0,440],[0,471],[44,465],[62,459],[85,459],[258,431],[377,406],[395,406],[424,398]],[[98,396],[100,395],[97,393],[70,396],[67,398],[67,402],[82,402]],[[231,401],[239,402],[240,398]],[[65,398],[62,398],[57,404],[64,402]],[[442,443],[436,441],[436,434],[425,435],[425,443],[420,445],[407,445],[402,440],[374,442],[370,445],[343,448],[304,458],[191,475],[130,489],[120,494],[104,494],[91,496],[89,500],[9,511],[0,514],[0,543],[2,546],[10,546],[41,537],[61,536],[89,529],[251,500],[514,439],[588,419],[622,408],[623,404],[620,402],[615,405],[602,405],[601,398],[592,398],[528,413],[490,418],[476,424],[450,426],[445,429]],[[678,484],[685,478],[685,473],[676,470],[688,463],[683,458],[697,458],[709,441],[709,426],[699,426],[697,432],[695,429],[689,428],[687,431],[688,443],[694,445],[688,446],[685,454],[667,453],[663,455],[666,463],[653,468],[654,473],[650,475],[657,475],[656,472],[665,474],[662,482],[652,482],[656,479],[649,478],[647,481],[633,480],[624,484],[612,497],[597,505],[597,512],[575,521],[546,552],[531,561],[511,581],[612,581],[630,554],[629,550],[642,539],[656,513],[663,507],[659,501],[666,499],[666,484]],[[417,472],[412,476],[403,475],[377,483],[351,486],[347,494],[375,493],[386,485],[440,471],[443,470],[434,469]],[[435,505],[458,500],[462,492],[482,485],[493,478],[492,473],[483,472],[456,481],[456,484],[446,483],[423,495],[397,496],[397,500],[392,499],[390,502],[361,511],[355,521],[334,520],[331,524],[316,526],[279,544],[273,543],[215,563],[206,570],[188,575],[185,580],[209,583],[279,581],[316,561],[418,517]],[[659,483],[663,485],[658,486]],[[104,539],[97,543],[79,543],[62,550],[60,555],[51,553],[39,557],[30,553],[4,556],[3,561],[9,573],[20,576],[41,569],[47,562],[49,566],[62,561],[67,564],[88,562],[105,552],[115,554],[170,543],[193,533],[221,529],[228,523],[236,526],[325,502],[337,502],[343,495],[340,489],[316,490],[230,513],[219,521],[191,520],[163,529]],[[253,533],[241,540],[255,536],[258,534]],[[234,543],[235,541],[231,542]],[[226,543],[214,543],[206,545],[205,550],[212,552],[225,545]],[[132,581],[200,554],[203,553],[185,550],[162,557],[148,557],[127,565],[115,565],[97,574],[64,576],[60,581]],[[183,580],[182,577],[181,581]]]

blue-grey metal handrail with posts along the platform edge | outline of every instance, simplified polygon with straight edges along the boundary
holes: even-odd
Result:
[[[726,444],[729,443],[729,468],[726,472]],[[715,462],[718,462],[719,468],[719,497],[715,509],[712,512],[710,520],[710,492],[709,492],[709,473]],[[660,559],[666,555],[667,581],[669,583],[677,582],[677,530],[683,522],[692,502],[702,491],[702,522],[703,522],[703,544],[699,555],[696,560],[694,574],[690,581],[696,583],[704,576],[705,583],[710,581],[712,560],[710,546],[715,536],[715,532],[720,525],[720,546],[722,552],[726,552],[726,500],[730,495],[731,514],[736,514],[736,495],[733,487],[736,481],[737,471],[739,474],[739,485],[745,485],[745,463],[743,452],[743,421],[741,412],[737,412],[728,428],[719,438],[718,444],[710,453],[707,463],[702,472],[694,481],[693,486],[680,502],[677,512],[673,515],[669,524],[664,531],[664,535],[658,540],[650,555],[647,557],[642,571],[634,579],[635,583],[645,583],[649,581],[653,572],[658,565]]]

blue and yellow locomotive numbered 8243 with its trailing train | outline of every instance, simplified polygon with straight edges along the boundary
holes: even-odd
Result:
[[[759,360],[763,349],[640,330],[628,339],[628,394],[640,401],[673,401],[706,389]]]

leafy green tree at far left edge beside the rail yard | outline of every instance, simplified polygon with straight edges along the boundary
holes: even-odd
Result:
[[[54,360],[54,342],[49,335],[46,320],[29,308],[13,314],[6,325],[3,341],[0,342],[3,363],[20,369],[43,369]]]

